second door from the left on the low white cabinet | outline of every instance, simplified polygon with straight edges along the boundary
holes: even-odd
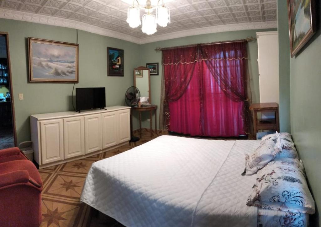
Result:
[[[65,159],[85,154],[83,117],[64,118]]]

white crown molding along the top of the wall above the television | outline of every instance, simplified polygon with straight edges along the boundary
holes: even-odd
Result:
[[[33,22],[33,23],[41,23],[41,24],[54,25],[54,26],[60,26],[60,27],[66,27],[66,28],[74,28],[74,29],[79,29],[86,32],[92,32],[95,34],[109,36],[112,38],[140,44],[139,43],[140,39],[134,36],[111,31],[105,28],[100,28],[95,25],[90,25],[87,23],[65,19],[65,18],[58,18],[53,16],[41,15],[41,14],[31,14],[31,13],[7,10],[7,9],[0,9],[0,18],[12,19],[12,20],[18,20],[18,21],[27,21],[27,22]]]

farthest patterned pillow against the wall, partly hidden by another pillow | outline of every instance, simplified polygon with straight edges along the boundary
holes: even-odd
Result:
[[[281,142],[276,144],[275,149],[280,150],[280,152],[275,156],[275,159],[283,159],[283,158],[298,159],[299,158],[298,152],[294,146],[294,142],[292,141],[291,134],[287,132],[281,132],[278,134],[281,138]],[[274,135],[274,134],[271,134],[271,135]]]

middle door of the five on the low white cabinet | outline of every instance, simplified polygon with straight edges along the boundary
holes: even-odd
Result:
[[[101,150],[101,114],[84,117],[85,120],[85,154]]]

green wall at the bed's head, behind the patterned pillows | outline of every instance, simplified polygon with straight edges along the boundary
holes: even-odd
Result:
[[[321,8],[318,8],[321,12]],[[317,21],[321,24],[320,18]],[[291,133],[307,173],[317,207],[321,207],[321,31],[291,58]],[[319,215],[311,226],[321,225]]]

